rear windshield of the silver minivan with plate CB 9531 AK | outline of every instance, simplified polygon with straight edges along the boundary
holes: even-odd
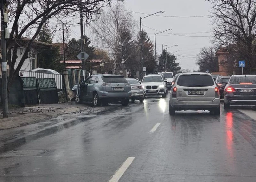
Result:
[[[214,85],[214,81],[211,75],[181,75],[177,84],[184,87],[208,87]]]

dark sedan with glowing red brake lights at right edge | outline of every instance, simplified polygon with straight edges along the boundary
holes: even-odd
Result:
[[[256,105],[256,75],[233,75],[224,90],[224,108]]]

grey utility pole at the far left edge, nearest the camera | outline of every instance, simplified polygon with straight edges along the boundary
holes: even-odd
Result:
[[[8,93],[7,93],[7,61],[6,61],[6,39],[9,38],[9,32],[7,29],[8,12],[7,0],[1,0],[1,47],[2,47],[2,100],[3,103],[3,118],[8,118]],[[7,33],[7,34],[6,34]]]

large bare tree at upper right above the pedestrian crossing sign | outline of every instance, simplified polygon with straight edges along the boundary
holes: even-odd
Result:
[[[247,68],[256,68],[256,1],[209,0],[212,4],[215,39],[227,46],[240,44],[244,47]],[[249,69],[245,69],[248,73]]]

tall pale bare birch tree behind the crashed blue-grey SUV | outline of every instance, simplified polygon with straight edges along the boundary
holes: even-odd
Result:
[[[110,52],[113,63],[113,73],[116,74],[116,69],[121,64],[121,51],[123,44],[132,39],[134,33],[134,19],[130,12],[124,10],[123,4],[116,4],[115,7],[109,8],[106,11],[101,10],[100,15],[90,25],[92,32],[100,41],[102,48]],[[125,35],[125,36],[124,36]],[[126,61],[132,54],[127,56]]]

